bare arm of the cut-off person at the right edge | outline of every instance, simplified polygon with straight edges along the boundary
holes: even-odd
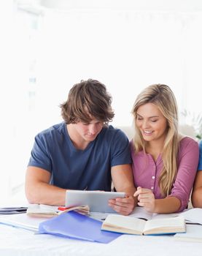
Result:
[[[198,170],[192,194],[193,207],[202,208],[202,170]]]

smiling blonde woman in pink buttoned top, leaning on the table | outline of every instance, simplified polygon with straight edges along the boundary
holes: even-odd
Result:
[[[198,143],[179,134],[176,99],[163,84],[148,86],[133,105],[134,196],[153,213],[187,207],[198,166]]]

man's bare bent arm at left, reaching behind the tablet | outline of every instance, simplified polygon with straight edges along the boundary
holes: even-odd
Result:
[[[51,174],[39,167],[29,166],[26,171],[26,197],[29,203],[64,206],[66,189],[49,184]]]

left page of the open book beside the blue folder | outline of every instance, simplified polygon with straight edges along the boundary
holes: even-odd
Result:
[[[104,221],[104,225],[116,227],[117,232],[119,232],[121,228],[124,228],[127,230],[135,230],[138,233],[142,233],[145,222],[146,221],[143,219],[137,219],[123,215],[109,214],[106,217],[106,220]]]

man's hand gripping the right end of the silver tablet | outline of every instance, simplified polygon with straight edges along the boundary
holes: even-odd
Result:
[[[124,198],[117,197],[115,199],[110,199],[109,206],[119,214],[128,215],[133,211],[135,201],[132,196],[127,194]]]

